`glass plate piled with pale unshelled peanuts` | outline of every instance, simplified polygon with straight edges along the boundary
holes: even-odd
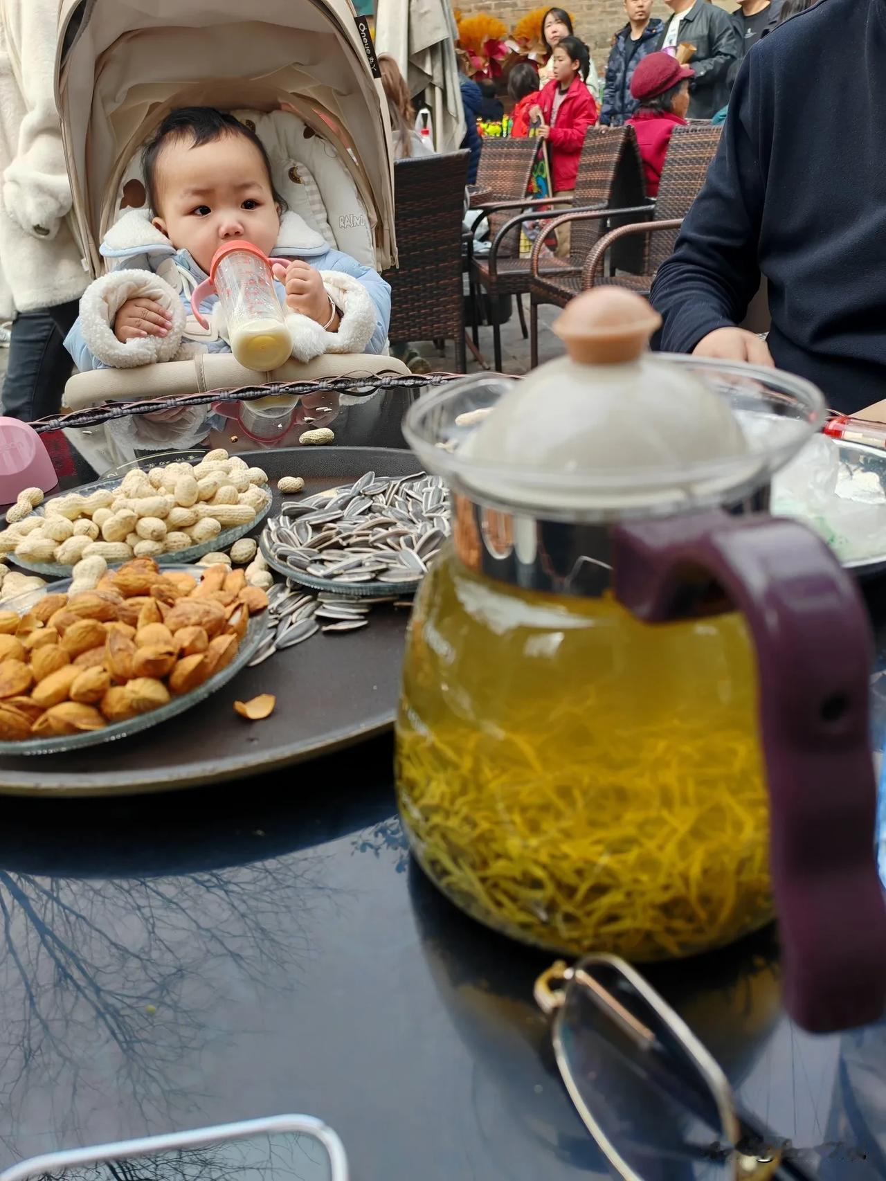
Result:
[[[74,566],[93,556],[108,566],[193,562],[267,516],[267,483],[261,468],[217,448],[197,463],[133,466],[45,503],[39,488],[26,488],[0,530],[0,561],[74,579]]]

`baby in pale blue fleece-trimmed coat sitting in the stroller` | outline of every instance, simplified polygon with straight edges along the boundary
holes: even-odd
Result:
[[[285,209],[249,126],[214,107],[181,107],[161,123],[142,164],[154,217],[131,210],[106,234],[100,253],[117,269],[89,286],[65,341],[78,368],[229,352],[216,296],[201,306],[208,332],[188,313],[216,249],[236,239],[281,260],[274,274],[293,358],[385,351],[390,287]]]

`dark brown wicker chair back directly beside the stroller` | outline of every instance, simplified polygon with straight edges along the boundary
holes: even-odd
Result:
[[[399,159],[393,165],[399,262],[391,285],[391,340],[455,340],[465,371],[462,214],[467,151]]]

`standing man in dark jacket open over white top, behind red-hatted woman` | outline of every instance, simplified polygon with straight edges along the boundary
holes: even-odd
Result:
[[[690,119],[710,119],[729,102],[729,64],[741,57],[742,45],[729,13],[709,0],[665,0],[672,12],[656,50],[677,51],[682,41],[695,45],[685,65],[695,78],[689,86]]]

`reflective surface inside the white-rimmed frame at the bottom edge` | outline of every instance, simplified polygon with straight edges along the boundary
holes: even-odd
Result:
[[[34,1181],[328,1181],[330,1175],[328,1151],[315,1136],[282,1133],[92,1161]]]

